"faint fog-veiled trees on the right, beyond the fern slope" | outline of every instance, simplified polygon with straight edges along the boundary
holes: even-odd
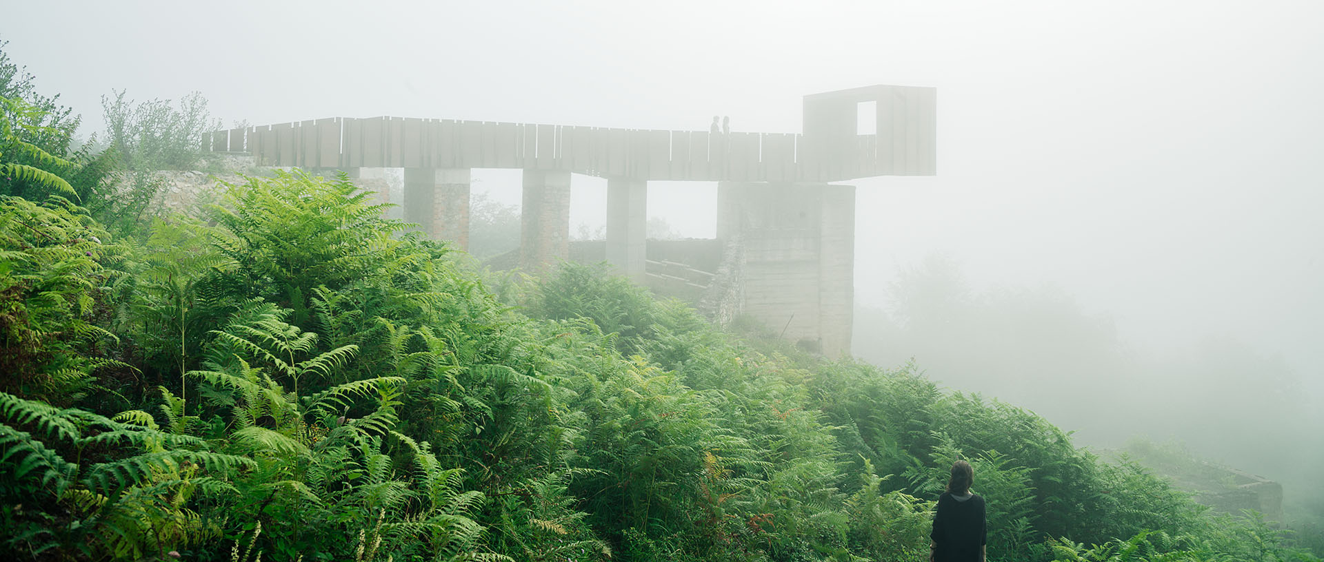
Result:
[[[929,378],[1013,401],[1088,444],[1177,439],[1284,484],[1290,514],[1324,521],[1321,403],[1300,373],[1226,337],[1132,341],[1055,288],[978,288],[948,258],[899,272],[887,311],[857,317],[861,358],[914,361]]]

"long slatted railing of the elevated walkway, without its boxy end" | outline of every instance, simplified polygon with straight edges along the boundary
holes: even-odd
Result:
[[[876,135],[814,157],[802,135],[712,134],[404,118],[328,118],[216,131],[213,152],[301,168],[528,168],[600,177],[838,181],[888,173]],[[818,161],[816,161],[818,160]],[[831,160],[831,161],[826,161]]]

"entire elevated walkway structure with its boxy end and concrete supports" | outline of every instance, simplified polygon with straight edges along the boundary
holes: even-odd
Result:
[[[348,171],[401,205],[405,221],[461,247],[470,169],[520,168],[519,263],[528,270],[569,257],[571,175],[605,177],[604,258],[621,274],[700,295],[719,320],[748,315],[839,356],[850,349],[855,188],[833,182],[936,173],[935,102],[933,89],[908,86],[813,94],[800,135],[384,116],[217,131],[203,143],[249,152],[260,165]],[[404,168],[402,201],[389,201],[383,168]],[[651,180],[719,182],[720,271],[650,261]]]

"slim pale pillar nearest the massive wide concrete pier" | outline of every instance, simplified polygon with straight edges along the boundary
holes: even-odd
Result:
[[[645,180],[606,180],[606,261],[636,283],[643,283],[647,198]]]

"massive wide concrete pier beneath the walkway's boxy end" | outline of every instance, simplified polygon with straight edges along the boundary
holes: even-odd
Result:
[[[797,346],[850,353],[855,188],[718,184],[718,238],[743,241],[739,309]]]

